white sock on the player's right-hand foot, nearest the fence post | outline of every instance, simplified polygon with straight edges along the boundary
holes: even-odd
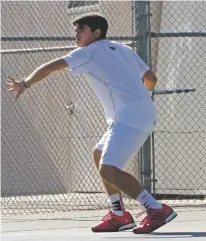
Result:
[[[154,209],[162,208],[162,204],[158,203],[146,189],[144,189],[138,195],[136,200],[140,202],[145,208],[154,208]]]

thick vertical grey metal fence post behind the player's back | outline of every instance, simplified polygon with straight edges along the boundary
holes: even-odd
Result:
[[[150,65],[149,42],[149,1],[134,1],[134,30],[140,39],[136,42],[137,52],[140,57]],[[142,184],[151,192],[151,138],[148,137],[140,151]]]

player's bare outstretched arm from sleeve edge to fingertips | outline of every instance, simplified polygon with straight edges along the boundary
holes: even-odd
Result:
[[[16,99],[18,99],[19,96],[23,94],[26,88],[29,88],[34,83],[43,80],[51,73],[63,70],[67,67],[68,64],[62,58],[58,58],[39,66],[34,72],[32,72],[22,81],[15,80],[12,77],[8,77],[6,80],[8,91],[16,92]]]

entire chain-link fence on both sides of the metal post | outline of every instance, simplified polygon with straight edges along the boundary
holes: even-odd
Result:
[[[156,36],[159,32],[205,33],[205,5],[150,4],[150,56],[159,79],[157,89],[196,89],[195,93],[154,96],[158,123],[151,183],[159,198],[205,195],[205,37]],[[2,80],[7,75],[27,76],[74,49],[72,21],[84,13],[104,14],[108,38],[136,48],[141,17],[134,10],[132,1],[3,1]],[[191,24],[182,29],[188,19]],[[108,207],[92,160],[92,150],[107,126],[87,79],[58,72],[29,89],[18,102],[3,83],[2,100],[2,214]],[[139,154],[127,170],[141,180]],[[125,203],[128,208],[136,205],[127,196]]]

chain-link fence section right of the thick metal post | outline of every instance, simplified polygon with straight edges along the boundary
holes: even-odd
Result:
[[[157,89],[195,89],[154,96],[158,122],[153,190],[161,198],[206,195],[205,10],[204,1],[151,4],[151,64]]]

